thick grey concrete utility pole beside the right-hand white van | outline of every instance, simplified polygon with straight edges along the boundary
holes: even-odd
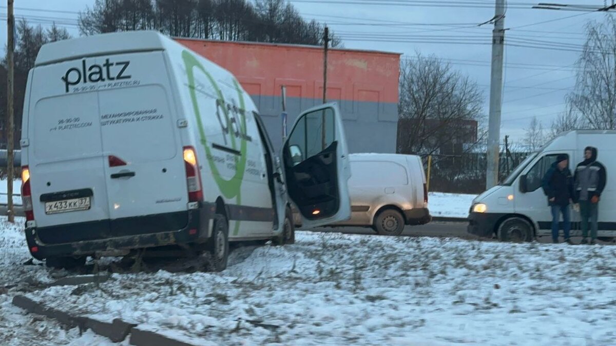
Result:
[[[488,127],[487,172],[485,188],[498,183],[500,116],[503,97],[503,47],[505,46],[505,0],[496,0],[492,31],[492,73],[490,81],[490,121]]]

